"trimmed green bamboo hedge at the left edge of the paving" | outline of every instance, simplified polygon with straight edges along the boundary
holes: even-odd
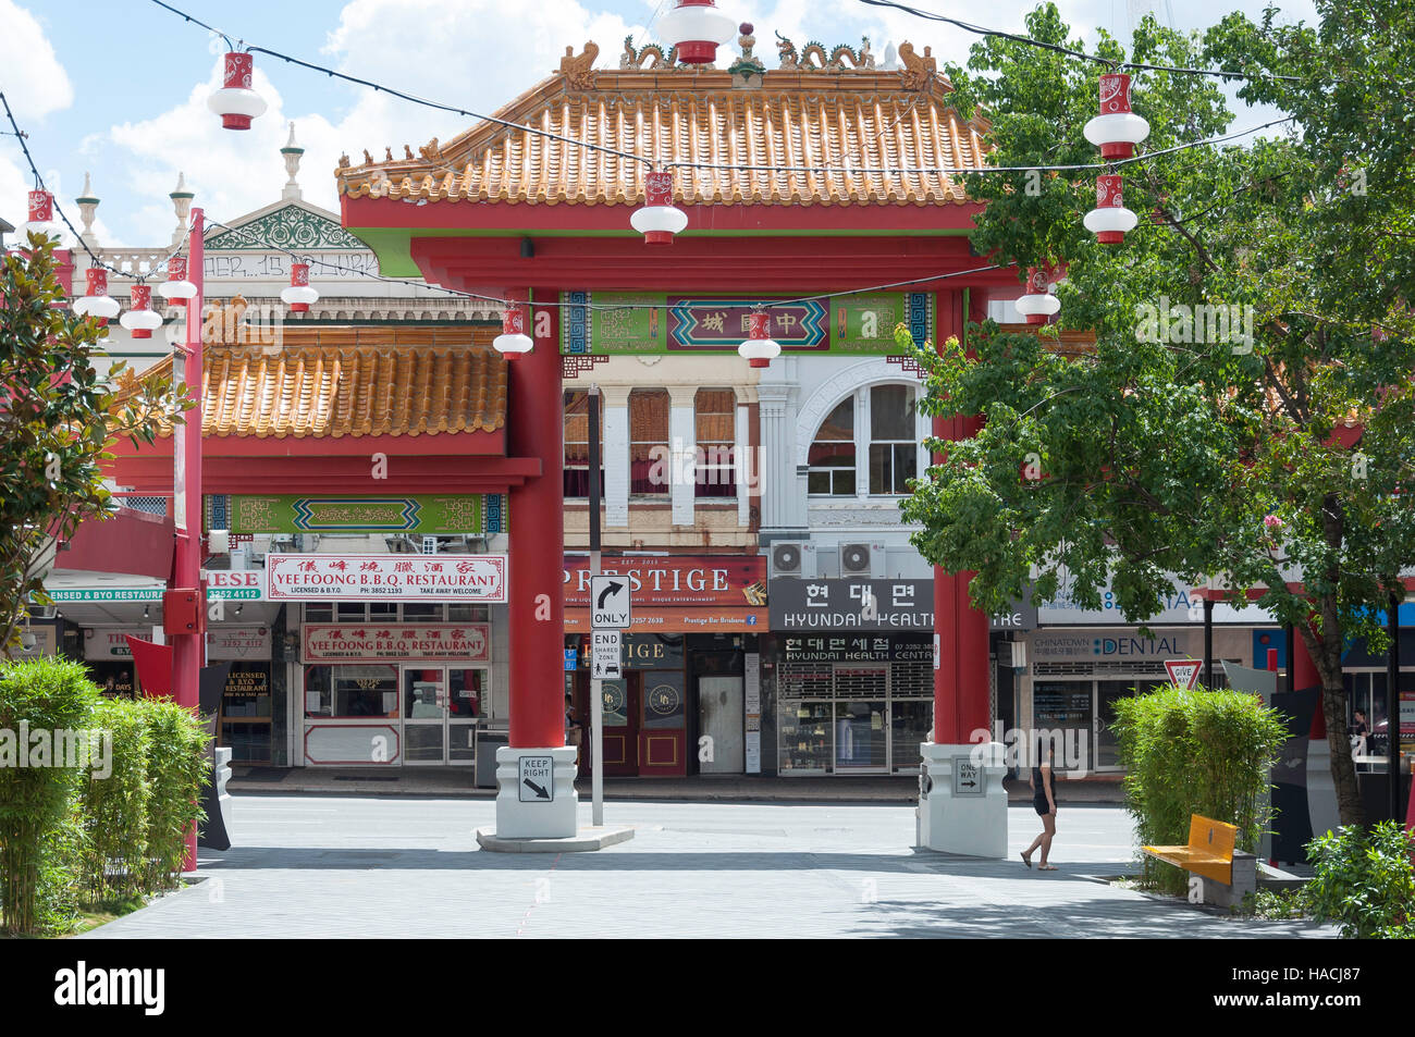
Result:
[[[168,699],[105,700],[82,664],[0,662],[0,931],[65,932],[81,900],[175,884],[208,741]]]

